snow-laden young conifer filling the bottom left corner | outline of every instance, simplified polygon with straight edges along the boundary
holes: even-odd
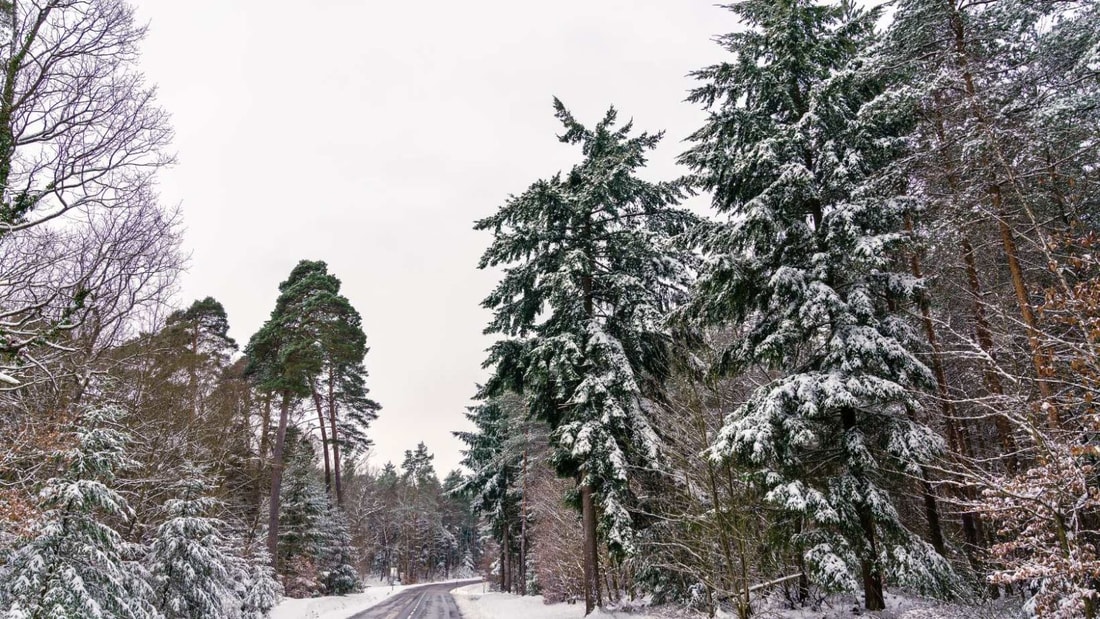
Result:
[[[113,524],[132,518],[114,489],[130,464],[122,413],[113,407],[80,414],[70,446],[52,461],[57,476],[38,493],[35,535],[0,567],[4,619],[157,619],[138,554]]]

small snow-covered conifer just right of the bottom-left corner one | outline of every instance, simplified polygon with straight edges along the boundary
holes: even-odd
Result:
[[[228,523],[212,516],[213,486],[197,468],[183,473],[145,557],[154,604],[165,619],[237,619],[242,600],[235,578],[243,560],[227,537]]]

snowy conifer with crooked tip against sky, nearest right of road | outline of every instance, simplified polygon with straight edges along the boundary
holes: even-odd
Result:
[[[583,161],[475,224],[494,236],[480,268],[504,268],[483,302],[494,311],[486,333],[505,338],[485,363],[495,375],[483,396],[520,391],[552,429],[559,473],[580,493],[591,612],[601,603],[597,518],[612,552],[629,552],[630,468],[658,457],[644,398],[667,374],[663,316],[689,279],[671,239],[695,220],[676,208],[678,183],[636,176],[661,134],[632,136],[614,108],[594,129],[557,99],[554,109],[560,140],[580,145]]]

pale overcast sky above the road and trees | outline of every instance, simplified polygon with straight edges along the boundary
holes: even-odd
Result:
[[[186,225],[180,303],[220,300],[243,346],[290,268],[328,262],[371,346],[372,464],[424,441],[440,475],[485,376],[495,275],[472,223],[579,157],[551,98],[666,130],[646,176],[674,177],[703,119],[685,75],[735,25],[704,0],[135,3],[176,130],[161,189]]]

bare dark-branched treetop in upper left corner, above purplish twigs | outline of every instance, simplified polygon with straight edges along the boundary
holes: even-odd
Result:
[[[172,131],[122,0],[14,0],[0,49],[0,235],[141,201]]]

